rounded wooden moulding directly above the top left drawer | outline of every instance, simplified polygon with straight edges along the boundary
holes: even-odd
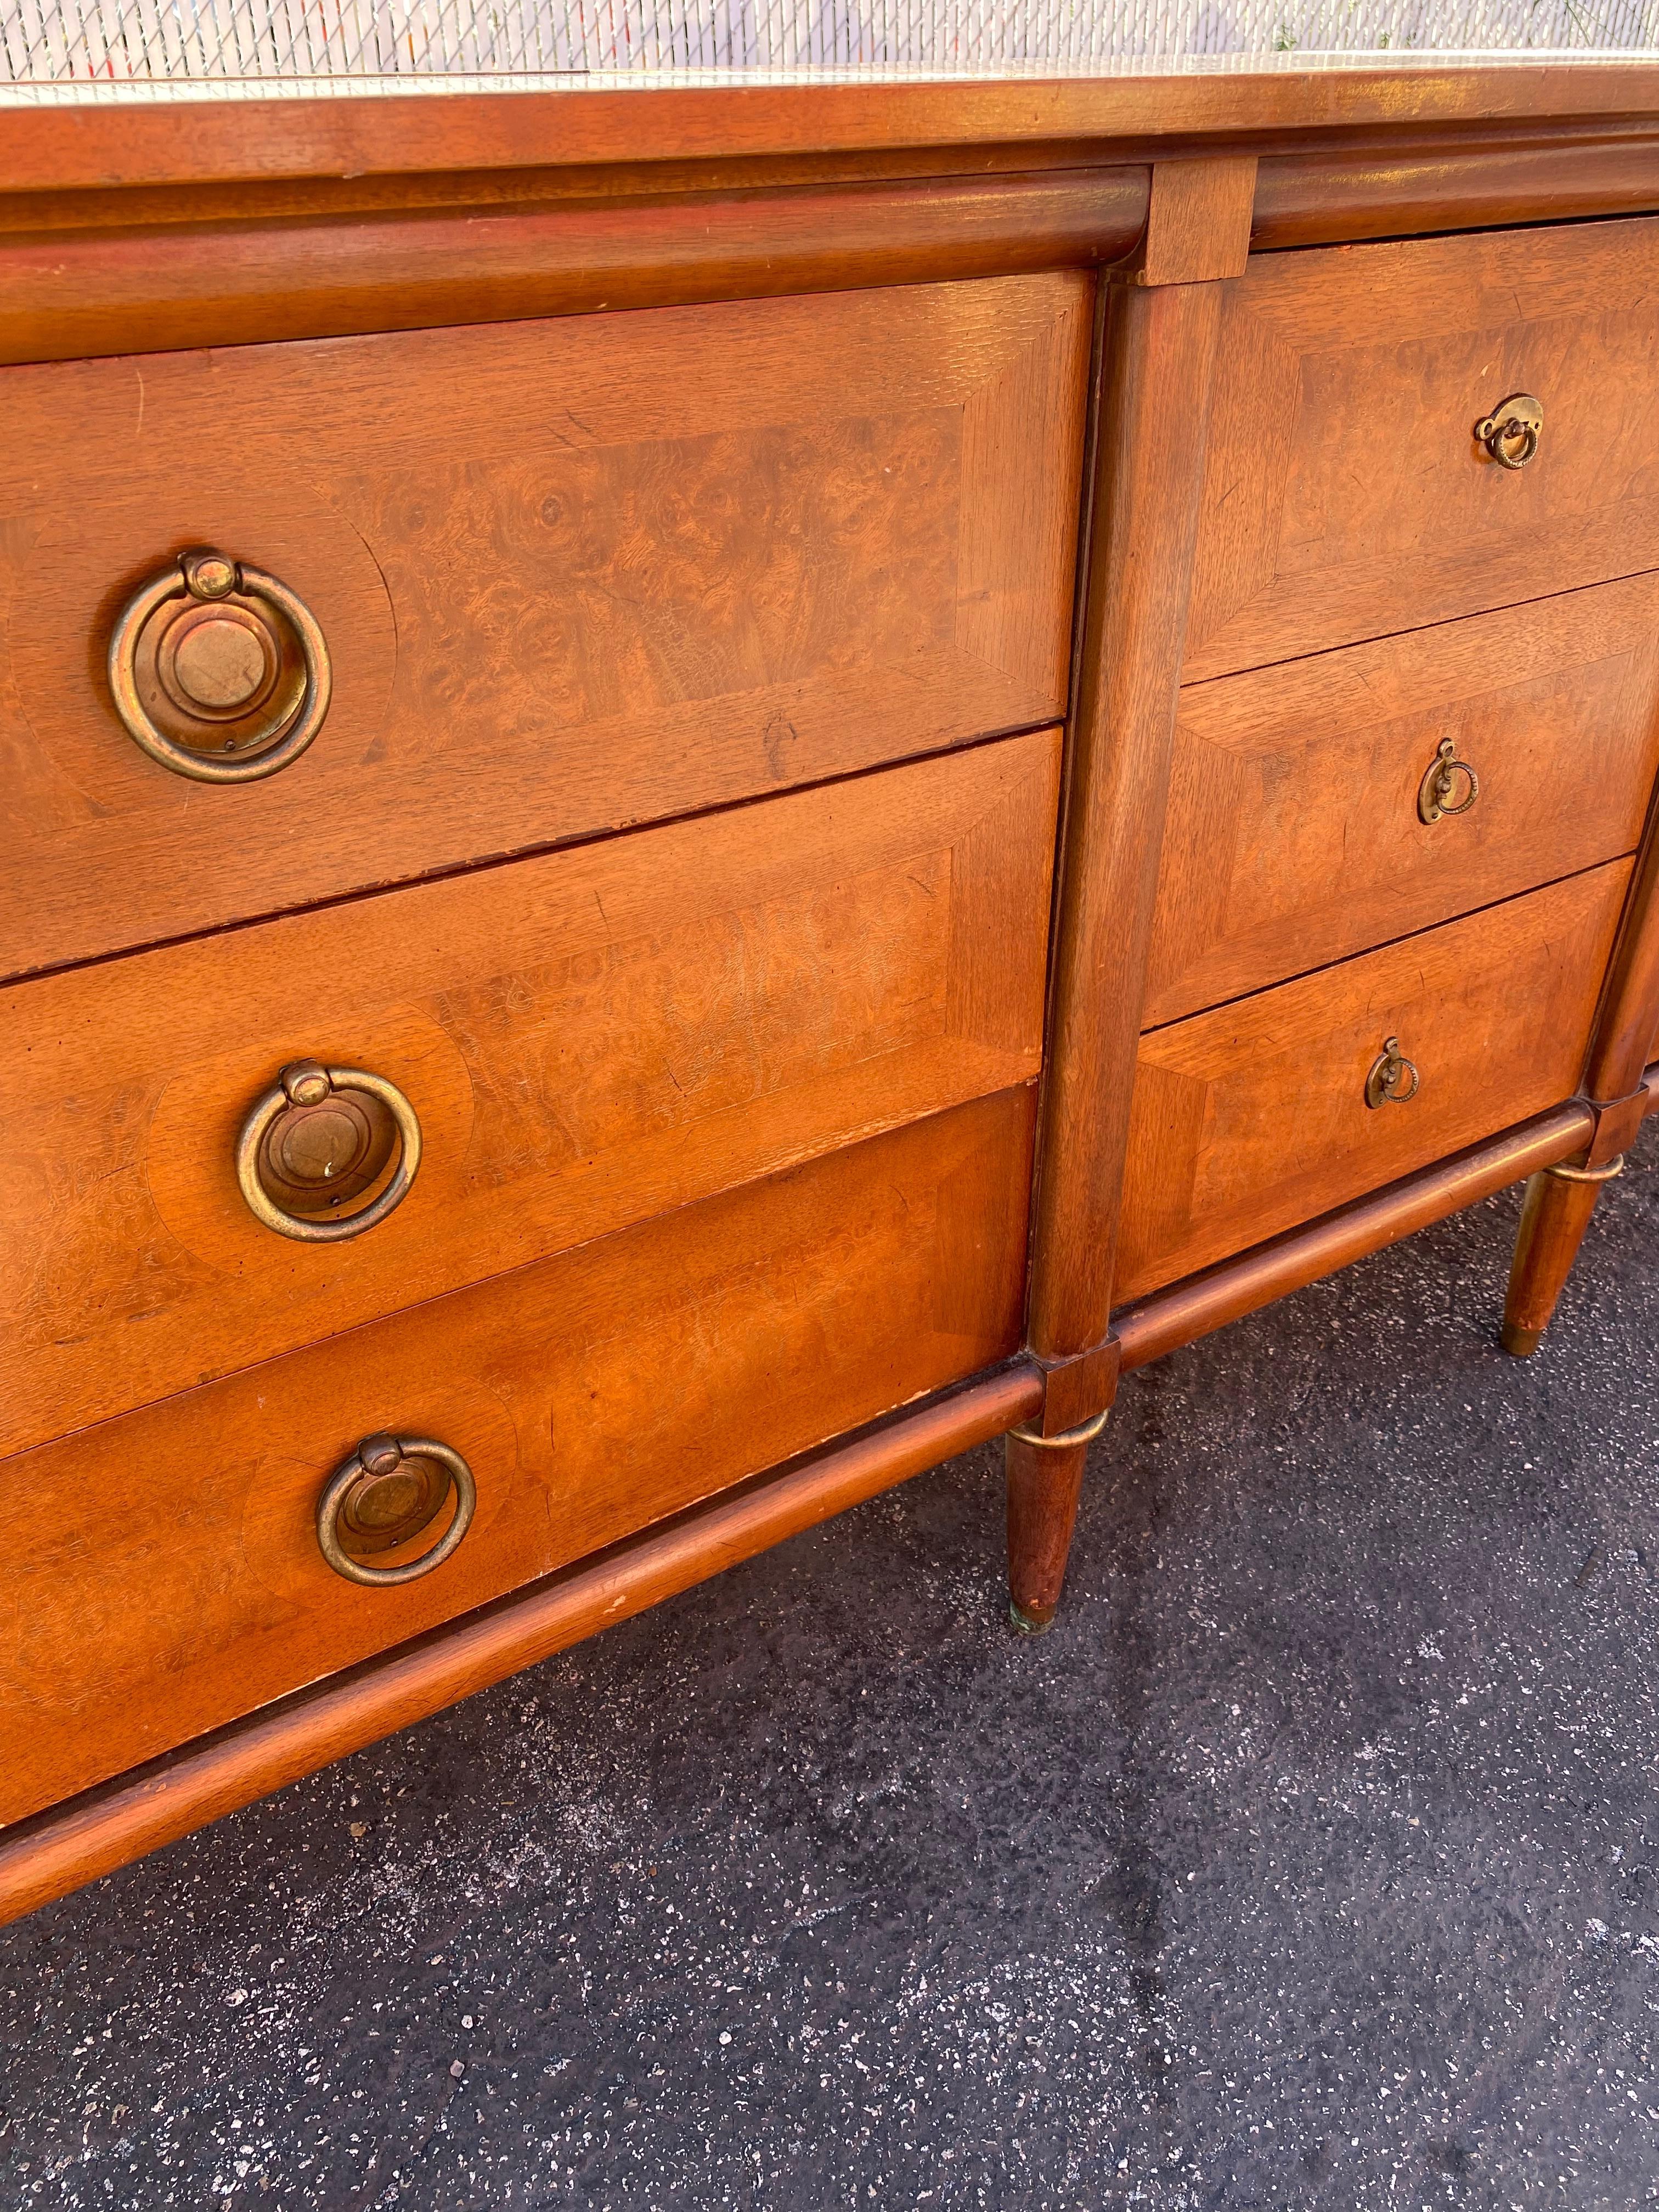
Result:
[[[66,221],[4,234],[0,361],[257,345],[686,301],[852,292],[1126,254],[1146,223],[1144,168],[1035,177],[865,179],[772,192],[535,197],[319,212],[252,197],[217,221]],[[471,190],[478,186],[471,181]],[[546,186],[542,184],[542,195]],[[113,212],[113,210],[104,210]],[[288,221],[274,219],[283,212]]]

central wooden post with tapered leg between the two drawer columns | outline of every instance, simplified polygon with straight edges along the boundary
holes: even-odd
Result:
[[[1221,279],[1250,252],[1256,164],[1161,161],[1146,239],[1106,305],[1093,540],[1037,1137],[1026,1343],[1037,1422],[1009,1436],[1015,1628],[1053,1624],[1086,1431],[1117,1387],[1108,1338],[1175,703],[1208,451]]]

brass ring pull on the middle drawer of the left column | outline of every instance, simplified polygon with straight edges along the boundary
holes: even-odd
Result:
[[[367,1068],[316,1060],[290,1062],[237,1137],[248,1210],[299,1243],[345,1243],[372,1230],[403,1206],[418,1168],[420,1117],[403,1091]],[[367,1206],[338,1212],[365,1192],[376,1192]]]

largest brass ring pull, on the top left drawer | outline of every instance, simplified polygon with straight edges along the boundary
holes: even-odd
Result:
[[[316,615],[263,568],[195,551],[153,575],[108,641],[131,739],[175,776],[274,776],[323,728],[334,675]]]

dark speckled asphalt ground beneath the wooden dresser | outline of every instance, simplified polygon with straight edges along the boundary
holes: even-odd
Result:
[[[1659,1135],[1659,1133],[1655,1133]],[[1659,1141],[0,1936],[0,2205],[1659,2203]]]

